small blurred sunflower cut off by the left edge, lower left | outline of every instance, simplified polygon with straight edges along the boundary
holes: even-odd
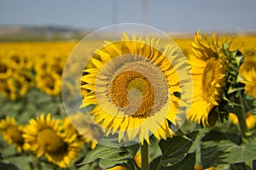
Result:
[[[0,132],[9,144],[14,144],[15,149],[23,150],[24,139],[22,138],[22,126],[18,126],[14,117],[7,116],[0,121]]]

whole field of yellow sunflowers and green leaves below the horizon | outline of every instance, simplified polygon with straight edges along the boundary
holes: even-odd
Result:
[[[0,169],[256,169],[256,35],[119,39],[84,42],[73,114],[79,42],[0,42]]]

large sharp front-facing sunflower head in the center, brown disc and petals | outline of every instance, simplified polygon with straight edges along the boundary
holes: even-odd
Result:
[[[144,139],[149,144],[152,133],[157,139],[172,136],[169,122],[182,119],[189,99],[184,89],[191,88],[189,66],[177,45],[161,48],[160,39],[130,39],[124,32],[121,41],[106,42],[90,61],[94,66],[85,67],[81,78],[81,88],[90,92],[81,106],[96,105],[90,115],[106,136],[118,132],[119,142],[138,137],[142,144]]]

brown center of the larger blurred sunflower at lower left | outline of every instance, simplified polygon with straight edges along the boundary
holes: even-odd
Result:
[[[50,128],[45,128],[38,133],[37,138],[40,147],[43,147],[45,152],[62,153],[67,150],[67,144]]]

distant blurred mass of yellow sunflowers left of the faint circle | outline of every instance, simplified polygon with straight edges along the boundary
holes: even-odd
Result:
[[[19,99],[30,88],[61,94],[61,73],[75,42],[6,42],[0,44],[0,93]]]

